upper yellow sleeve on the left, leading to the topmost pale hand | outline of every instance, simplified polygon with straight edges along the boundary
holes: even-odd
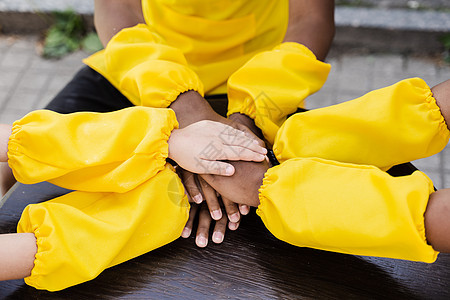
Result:
[[[178,127],[171,109],[131,107],[111,113],[34,111],[13,125],[8,163],[25,184],[125,192],[164,168]]]

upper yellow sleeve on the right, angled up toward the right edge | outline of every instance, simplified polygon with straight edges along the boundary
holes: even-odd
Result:
[[[280,162],[321,157],[387,170],[436,154],[448,140],[447,124],[430,88],[412,78],[291,116],[278,131],[273,149]]]

